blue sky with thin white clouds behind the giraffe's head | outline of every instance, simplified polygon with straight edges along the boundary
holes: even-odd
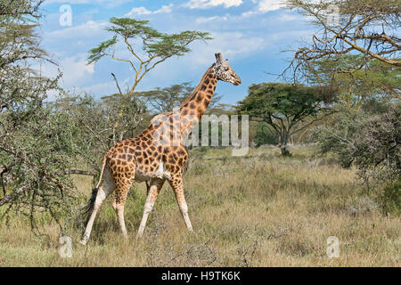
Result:
[[[62,4],[71,7],[70,27],[60,25]],[[291,59],[291,53],[283,51],[296,48],[314,33],[304,17],[282,8],[280,0],[47,0],[42,9],[42,47],[60,63],[62,85],[96,98],[117,92],[110,72],[117,75],[122,86],[133,82],[128,63],[104,58],[86,65],[87,51],[110,38],[104,30],[110,17],[150,20],[153,28],[167,33],[187,29],[211,33],[213,40],[194,43],[191,53],[151,70],[136,91],[188,81],[197,85],[215,61],[214,53],[220,52],[242,80],[238,86],[225,82],[217,85],[222,102],[232,104],[247,95],[250,84],[278,81],[266,73],[281,73]],[[117,47],[118,54],[128,55],[123,45]],[[48,76],[57,70],[52,65],[40,69]]]

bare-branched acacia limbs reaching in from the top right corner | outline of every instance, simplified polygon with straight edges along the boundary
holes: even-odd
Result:
[[[397,0],[287,0],[287,7],[306,15],[319,28],[310,43],[295,52],[291,77],[316,77],[313,62],[322,58],[339,61],[344,54],[360,54],[363,61],[348,62],[336,72],[352,74],[381,61],[401,67],[399,31],[401,8]]]

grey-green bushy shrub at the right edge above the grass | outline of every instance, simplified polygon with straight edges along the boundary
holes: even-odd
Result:
[[[383,190],[381,205],[400,207],[401,104],[379,115],[360,110],[338,113],[330,126],[315,130],[319,152],[334,152],[343,167],[355,165],[368,190]]]

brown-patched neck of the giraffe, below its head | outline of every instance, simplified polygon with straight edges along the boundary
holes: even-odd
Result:
[[[215,94],[217,78],[214,67],[215,63],[206,70],[199,85],[179,107],[181,134],[188,134],[192,126],[199,122],[208,108],[213,94]]]

